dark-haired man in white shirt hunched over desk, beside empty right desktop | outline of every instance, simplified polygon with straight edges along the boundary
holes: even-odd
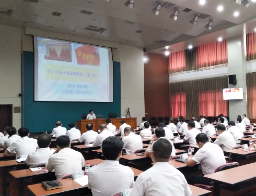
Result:
[[[223,125],[220,125],[223,126]],[[193,167],[196,163],[201,163],[203,175],[214,173],[215,169],[226,163],[223,150],[216,144],[211,143],[204,133],[200,133],[195,137],[199,150],[194,156],[189,156],[187,165]],[[212,180],[203,178],[203,175],[192,177],[188,180],[190,185],[202,184],[210,185]]]

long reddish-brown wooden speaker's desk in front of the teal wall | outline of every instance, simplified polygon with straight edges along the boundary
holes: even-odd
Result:
[[[135,129],[137,127],[137,118],[136,117],[111,119],[112,124],[115,125],[117,128],[120,127],[121,121],[125,121],[126,124],[131,125],[132,129]],[[99,126],[101,124],[106,124],[106,119],[93,119],[93,120],[76,121],[76,126],[81,131],[81,134],[87,132],[86,124],[88,124],[88,123],[91,123],[92,125],[94,125],[94,128],[92,130],[97,132],[99,130]]]

